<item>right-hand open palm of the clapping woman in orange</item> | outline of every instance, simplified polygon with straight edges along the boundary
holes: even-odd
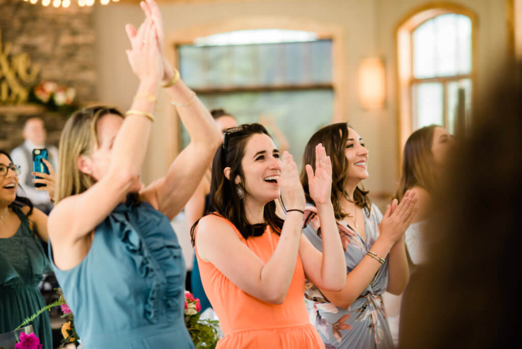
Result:
[[[306,164],[306,176],[310,196],[316,205],[331,202],[331,160],[321,143],[315,146],[315,173],[310,164]]]

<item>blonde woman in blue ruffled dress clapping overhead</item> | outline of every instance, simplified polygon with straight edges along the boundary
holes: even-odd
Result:
[[[110,107],[85,108],[71,115],[60,139],[50,259],[89,349],[194,347],[183,316],[185,263],[170,220],[203,178],[221,134],[162,54],[157,5],[141,7],[147,18],[140,28],[126,27],[139,79],[126,118]],[[162,81],[191,143],[165,177],[145,187],[139,174]]]

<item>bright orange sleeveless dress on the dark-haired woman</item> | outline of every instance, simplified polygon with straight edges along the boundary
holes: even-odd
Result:
[[[268,262],[279,241],[279,235],[267,226],[262,236],[244,239],[226,218],[245,245],[263,262]],[[195,234],[197,234],[197,227]],[[265,303],[241,290],[212,263],[199,257],[201,282],[216,311],[224,338],[216,349],[223,348],[324,348],[321,336],[310,323],[304,304],[304,270],[298,255],[295,270],[283,304]],[[241,267],[241,265],[238,265]]]

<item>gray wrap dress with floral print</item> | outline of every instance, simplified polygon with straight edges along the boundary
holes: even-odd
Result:
[[[372,205],[370,212],[364,209],[366,241],[348,224],[337,222],[343,249],[345,250],[346,272],[350,273],[364,258],[377,237],[378,224],[383,215]],[[303,224],[304,235],[319,251],[323,249],[321,223],[317,209],[307,204]],[[392,335],[388,327],[382,294],[388,285],[388,257],[379,268],[370,284],[348,309],[330,303],[321,291],[306,283],[306,307],[310,322],[315,326],[321,339],[329,348],[393,348]]]

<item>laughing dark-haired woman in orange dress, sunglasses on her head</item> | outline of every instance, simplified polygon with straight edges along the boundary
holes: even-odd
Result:
[[[224,133],[212,162],[211,206],[192,228],[201,282],[225,334],[217,348],[324,348],[304,304],[305,277],[339,290],[346,266],[330,202],[331,165],[316,147],[306,165],[311,195],[324,222],[321,253],[303,235],[305,205],[292,156],[265,127],[243,124]],[[281,197],[287,215],[276,215]]]

